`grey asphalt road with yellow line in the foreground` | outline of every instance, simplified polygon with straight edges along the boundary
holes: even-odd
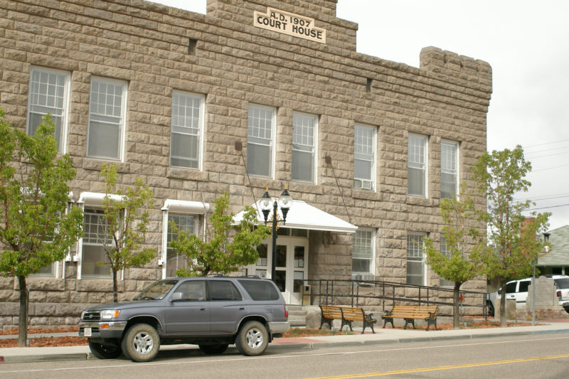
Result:
[[[0,378],[568,378],[569,333],[314,350],[1,364]]]

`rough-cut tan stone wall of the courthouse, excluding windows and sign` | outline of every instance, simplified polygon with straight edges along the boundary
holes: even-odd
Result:
[[[326,44],[255,28],[253,11],[267,6],[314,18],[326,29]],[[69,71],[66,150],[78,171],[71,187],[75,197],[101,192],[99,173],[109,162],[86,157],[90,81],[126,80],[119,185],[141,176],[154,191],[147,246],[161,254],[159,208],[166,198],[213,203],[228,191],[237,212],[253,202],[252,193],[258,199],[265,187],[280,193],[288,185],[294,198],[376,228],[376,279],[405,282],[407,233],[440,237],[440,139],[460,143],[460,181],[473,185],[468,167],[486,150],[490,66],[432,47],[420,52],[420,68],[356,53],[357,24],[336,18],[336,0],[209,0],[207,9],[207,15],[194,14],[142,0],[2,1],[0,107],[6,119],[26,127],[32,66]],[[169,166],[174,90],[206,95],[202,171]],[[275,180],[245,176],[250,103],[277,107]],[[316,185],[290,180],[293,112],[319,116]],[[373,192],[353,189],[356,122],[378,127]],[[426,198],[407,195],[408,133],[429,137]],[[243,152],[235,142],[243,143]],[[483,198],[475,200],[485,206]],[[309,279],[349,279],[351,235],[311,233],[309,242]],[[76,262],[62,269],[57,278],[29,279],[31,314],[41,316],[34,322],[68,324],[86,304],[112,299],[110,280],[77,280]],[[127,269],[120,298],[159,277],[157,257]],[[432,272],[428,281],[438,284]],[[472,283],[484,286],[482,279]],[[16,289],[16,280],[0,279],[2,325],[15,324]]]

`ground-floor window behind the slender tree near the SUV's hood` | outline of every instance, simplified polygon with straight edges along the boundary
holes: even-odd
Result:
[[[113,242],[104,215],[102,209],[85,208],[83,210],[82,277],[111,277],[105,247],[112,246]]]

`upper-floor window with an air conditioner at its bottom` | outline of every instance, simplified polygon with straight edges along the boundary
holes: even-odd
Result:
[[[353,129],[353,188],[376,189],[376,132],[362,124]]]

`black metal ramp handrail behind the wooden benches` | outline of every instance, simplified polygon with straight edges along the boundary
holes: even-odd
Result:
[[[395,282],[381,282],[376,280],[341,280],[341,279],[307,279],[304,283],[309,285],[309,304],[306,303],[306,293],[302,296],[303,305],[312,305],[314,300],[318,299],[318,304],[334,305],[334,299],[349,298],[349,304],[359,305],[360,299],[377,299],[381,300],[382,309],[385,311],[385,303],[391,302],[391,306],[395,302],[407,302],[416,304],[435,304],[453,306],[453,301],[443,301],[439,295],[440,292],[452,293],[452,288],[445,287],[427,287],[416,284],[405,284]],[[361,294],[360,287],[365,287],[366,292],[371,294]],[[373,289],[371,289],[373,288]],[[375,290],[374,290],[375,289]],[[416,296],[399,296],[397,290],[405,291],[406,289],[415,289]],[[486,306],[486,292],[460,291],[462,299],[461,306],[481,308],[484,319],[488,316],[488,307]],[[477,299],[481,299],[479,303]]]

